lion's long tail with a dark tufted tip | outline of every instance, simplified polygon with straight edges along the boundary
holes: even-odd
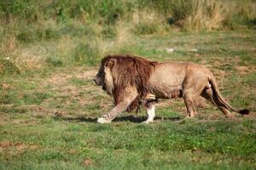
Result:
[[[225,99],[224,97],[220,94],[219,90],[218,90],[218,85],[216,83],[215,78],[213,77],[213,75],[211,75],[210,78],[210,84],[212,85],[212,92],[213,95],[215,95],[216,99],[218,100],[219,105],[224,106],[226,109],[230,110],[230,111],[235,111],[237,113],[240,113],[241,115],[248,115],[249,114],[249,110],[244,109],[244,110],[237,110],[234,107],[232,107]],[[218,104],[216,104],[218,105]]]

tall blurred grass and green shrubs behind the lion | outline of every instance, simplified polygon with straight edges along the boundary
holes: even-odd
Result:
[[[141,36],[255,29],[254,0],[3,0],[0,75],[97,65]],[[134,51],[133,51],[134,52]]]

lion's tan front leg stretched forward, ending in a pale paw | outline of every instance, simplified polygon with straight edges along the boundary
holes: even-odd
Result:
[[[128,87],[124,89],[123,98],[120,102],[114,106],[114,108],[108,111],[107,115],[98,118],[97,122],[100,123],[109,123],[112,122],[115,116],[119,115],[123,111],[127,109],[127,107],[131,104],[131,102],[137,97],[137,88]]]

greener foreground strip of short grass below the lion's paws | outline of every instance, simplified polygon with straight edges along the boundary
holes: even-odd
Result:
[[[11,123],[2,128],[1,137],[5,141],[28,145],[23,150],[15,150],[15,146],[3,148],[3,169],[252,169],[255,166],[252,121],[100,125],[43,118],[36,124]],[[248,128],[251,130],[246,132]],[[89,165],[86,160],[90,160]]]

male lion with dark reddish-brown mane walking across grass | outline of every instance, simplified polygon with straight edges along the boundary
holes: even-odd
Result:
[[[186,117],[196,115],[196,101],[203,97],[217,106],[224,116],[230,111],[242,115],[248,110],[233,108],[220,94],[212,72],[203,65],[181,62],[156,62],[142,57],[107,55],[94,77],[96,85],[113,96],[114,107],[97,122],[112,122],[123,111],[132,111],[143,105],[148,114],[146,123],[154,122],[157,99],[183,98]]]

